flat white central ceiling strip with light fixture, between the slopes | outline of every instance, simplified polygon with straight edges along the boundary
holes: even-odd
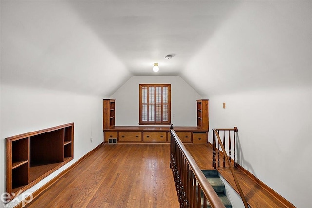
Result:
[[[225,1],[69,1],[133,75],[178,75],[239,3]],[[166,55],[173,55],[166,60]]]

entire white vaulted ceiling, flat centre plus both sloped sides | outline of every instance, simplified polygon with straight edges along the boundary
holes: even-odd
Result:
[[[202,96],[312,84],[312,1],[1,1],[0,21],[1,84],[105,97],[140,75]]]

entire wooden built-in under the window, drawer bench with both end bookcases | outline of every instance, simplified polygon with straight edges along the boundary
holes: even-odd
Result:
[[[197,126],[174,127],[174,130],[184,143],[207,144],[208,128],[208,100],[201,99],[197,100]],[[169,131],[169,126],[115,126],[115,100],[103,99],[105,143],[113,138],[117,138],[118,143],[169,143]]]

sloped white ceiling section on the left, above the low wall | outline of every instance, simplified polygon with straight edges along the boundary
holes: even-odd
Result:
[[[0,4],[1,83],[100,96],[131,77],[70,2]]]

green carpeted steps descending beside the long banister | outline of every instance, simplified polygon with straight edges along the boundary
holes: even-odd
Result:
[[[225,186],[224,186],[224,183],[219,178],[218,171],[217,170],[202,170],[202,172],[206,176],[210,185],[215,189],[215,192],[220,197],[224,206],[226,208],[232,208],[231,202],[225,195]],[[202,200],[201,204],[203,204],[203,197],[201,197],[201,200]],[[211,208],[208,202],[207,202],[207,208]]]

